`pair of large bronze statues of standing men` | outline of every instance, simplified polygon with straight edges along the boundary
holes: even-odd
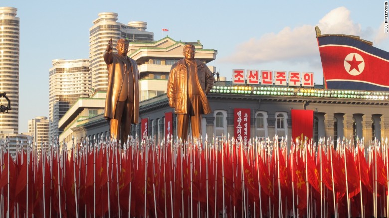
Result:
[[[112,52],[112,39],[104,52],[108,68],[108,89],[104,117],[110,120],[111,138],[127,141],[131,123],[139,121],[139,71],[137,63],[127,56],[129,43],[119,39]],[[184,46],[184,58],[172,66],[169,74],[167,96],[169,106],[177,114],[177,136],[183,140],[188,137],[189,118],[192,136],[201,135],[201,116],[210,113],[206,99],[213,86],[214,78],[208,67],[194,59],[195,47]]]

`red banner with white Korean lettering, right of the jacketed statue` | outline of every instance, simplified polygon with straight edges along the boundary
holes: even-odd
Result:
[[[250,109],[234,109],[234,137],[243,139],[245,143],[250,138]]]

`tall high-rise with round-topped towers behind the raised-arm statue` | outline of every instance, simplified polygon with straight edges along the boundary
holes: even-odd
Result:
[[[108,41],[112,38],[113,50],[116,51],[116,41],[119,38],[133,40],[154,39],[153,32],[147,32],[147,22],[131,21],[127,25],[117,22],[118,14],[103,12],[98,14],[89,29],[89,58],[92,89],[94,91],[107,90],[108,71],[103,59],[103,53],[107,48]]]

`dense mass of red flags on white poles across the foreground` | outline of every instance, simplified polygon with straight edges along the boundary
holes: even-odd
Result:
[[[377,142],[136,141],[14,158],[2,146],[1,216],[388,216],[388,147]]]

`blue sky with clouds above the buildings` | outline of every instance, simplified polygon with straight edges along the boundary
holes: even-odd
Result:
[[[144,3],[147,2],[147,5]],[[118,21],[146,21],[158,40],[200,40],[216,49],[220,76],[232,69],[314,72],[322,67],[314,27],[322,33],[359,35],[389,51],[384,32],[384,1],[102,1],[1,0],[20,18],[19,132],[27,120],[48,116],[48,72],[53,59],[89,57],[89,28],[100,12]],[[169,32],[162,32],[162,28]]]

